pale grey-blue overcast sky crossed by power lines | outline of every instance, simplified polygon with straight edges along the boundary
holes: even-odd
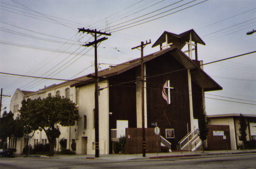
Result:
[[[152,48],[164,31],[194,29],[206,45],[198,45],[204,63],[256,51],[256,1],[170,0],[0,0],[0,72],[74,79],[94,72],[94,39],[78,28],[111,33],[98,46],[99,70],[139,58],[131,50],[141,41]],[[103,37],[103,36],[102,36]],[[205,92],[207,114],[256,114],[256,53],[204,65],[223,87]],[[37,91],[63,81],[0,74],[3,94]],[[10,106],[3,97],[2,109]]]

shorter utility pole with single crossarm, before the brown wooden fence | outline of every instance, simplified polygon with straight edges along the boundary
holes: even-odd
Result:
[[[150,42],[147,42],[144,44],[143,41],[141,41],[141,44],[139,46],[133,47],[132,50],[138,49],[140,47],[141,52],[141,118],[142,118],[142,156],[146,157],[146,140],[145,140],[145,114],[144,114],[144,63],[143,63],[143,49],[147,44],[150,44]]]

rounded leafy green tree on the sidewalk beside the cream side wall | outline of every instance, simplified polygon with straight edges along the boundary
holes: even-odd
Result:
[[[49,156],[54,155],[54,144],[60,135],[58,125],[74,126],[79,119],[75,104],[58,95],[45,99],[24,100],[19,112],[20,119],[26,126],[32,130],[45,131],[50,144]]]

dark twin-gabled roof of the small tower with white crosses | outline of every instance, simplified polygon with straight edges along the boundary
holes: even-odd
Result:
[[[152,47],[164,43],[165,35],[167,34],[168,43],[173,43],[178,47],[178,49],[181,50],[184,47],[185,42],[189,41],[190,33],[192,41],[205,45],[204,41],[198,36],[198,34],[193,29],[191,29],[179,35],[164,31],[163,34],[157,39],[157,41],[152,45]]]

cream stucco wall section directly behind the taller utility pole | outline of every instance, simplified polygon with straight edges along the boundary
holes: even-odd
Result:
[[[108,86],[108,81],[99,82],[99,87]],[[77,154],[84,154],[82,137],[87,137],[87,154],[95,154],[94,128],[94,83],[79,87],[79,114]],[[87,116],[87,127],[84,128],[83,116]],[[99,93],[99,153],[109,154],[109,88]]]

